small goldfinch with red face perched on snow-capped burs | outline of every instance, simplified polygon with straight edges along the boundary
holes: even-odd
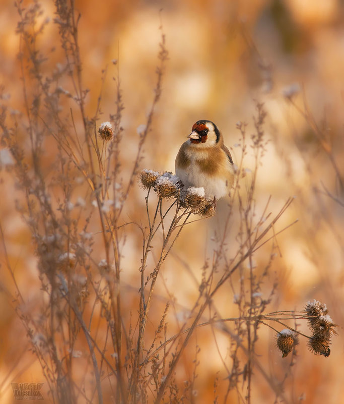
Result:
[[[211,121],[197,121],[177,154],[176,175],[184,189],[203,187],[205,197],[220,199],[234,183],[231,153],[218,127]]]

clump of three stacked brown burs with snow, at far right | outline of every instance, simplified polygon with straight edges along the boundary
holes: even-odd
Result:
[[[309,301],[305,307],[308,316],[308,325],[312,335],[308,341],[308,348],[314,354],[328,357],[329,345],[333,334],[337,334],[331,317],[327,314],[327,307],[317,300]]]

